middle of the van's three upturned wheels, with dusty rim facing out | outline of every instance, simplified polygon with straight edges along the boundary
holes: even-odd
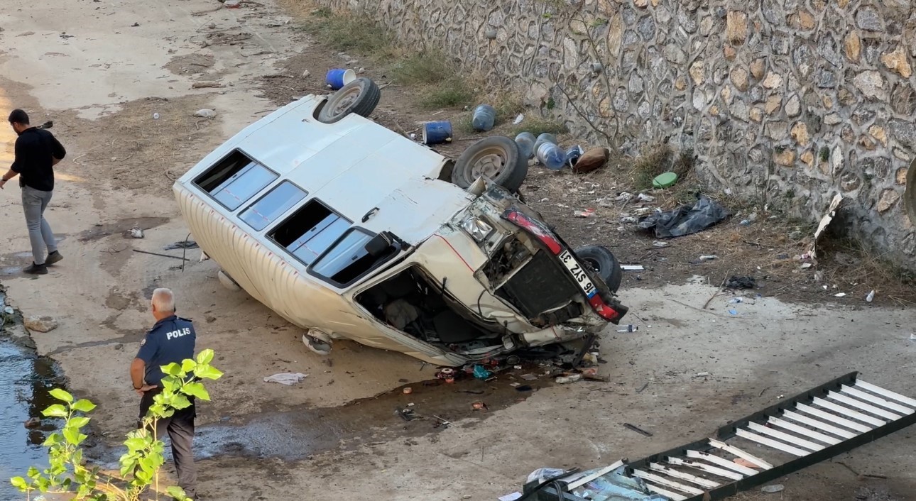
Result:
[[[481,139],[465,149],[452,170],[452,182],[467,190],[480,176],[486,176],[508,191],[518,191],[528,176],[528,159],[506,136]]]

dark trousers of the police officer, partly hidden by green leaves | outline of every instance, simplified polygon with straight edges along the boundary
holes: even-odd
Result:
[[[140,420],[147,415],[147,410],[153,405],[153,397],[158,393],[157,390],[147,391],[140,398]],[[193,402],[193,400],[192,400]],[[172,457],[175,459],[175,470],[178,472],[178,485],[186,495],[195,496],[197,486],[197,467],[194,465],[194,455],[191,452],[191,442],[194,440],[194,418],[196,411],[193,403],[189,408],[176,410],[171,418],[159,419],[156,425],[156,436],[163,440],[166,433],[169,434],[169,440],[172,444]],[[142,424],[137,424],[137,428]]]

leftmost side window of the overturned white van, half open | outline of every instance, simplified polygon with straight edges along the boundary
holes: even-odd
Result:
[[[194,184],[234,211],[277,178],[277,173],[234,150],[194,180]]]

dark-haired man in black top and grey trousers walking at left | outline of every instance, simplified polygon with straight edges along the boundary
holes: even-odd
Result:
[[[46,275],[48,265],[63,259],[44,213],[54,191],[54,166],[67,155],[67,150],[49,131],[28,125],[28,114],[22,110],[13,110],[9,114],[9,125],[19,135],[16,138],[16,160],[0,179],[0,190],[6,181],[19,176],[22,208],[26,212],[28,239],[34,258],[32,265],[23,271]],[[48,256],[45,256],[46,248]]]

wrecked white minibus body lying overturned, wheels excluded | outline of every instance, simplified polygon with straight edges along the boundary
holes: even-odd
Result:
[[[437,365],[571,341],[626,312],[515,195],[455,186],[451,160],[357,114],[319,122],[324,101],[247,126],[174,184],[198,245],[256,300],[322,339]]]

